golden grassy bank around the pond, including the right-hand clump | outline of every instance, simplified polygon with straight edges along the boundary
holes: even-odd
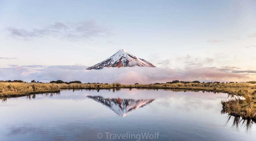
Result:
[[[223,113],[256,120],[256,84],[252,83],[164,83],[164,84],[52,84],[52,83],[9,83],[0,82],[0,97],[28,96],[36,93],[59,92],[61,89],[111,89],[111,88],[152,88],[187,89],[228,93],[233,98],[222,101]],[[240,99],[242,96],[244,99]]]

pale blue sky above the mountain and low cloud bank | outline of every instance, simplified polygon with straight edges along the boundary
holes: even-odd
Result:
[[[92,66],[126,49],[157,67],[256,78],[255,7],[255,0],[0,0],[0,68]]]

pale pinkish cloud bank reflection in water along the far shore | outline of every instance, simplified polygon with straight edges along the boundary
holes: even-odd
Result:
[[[72,92],[70,92],[72,91]],[[26,97],[30,99],[72,99],[82,100],[90,96],[104,96],[105,99],[156,99],[156,102],[163,107],[172,107],[179,110],[190,111],[192,109],[212,109],[216,107],[216,103],[227,97],[223,93],[213,93],[204,91],[191,91],[181,89],[66,89],[60,93],[46,93],[30,95]],[[7,98],[3,98],[2,102],[6,102]],[[125,114],[125,113],[124,113]]]

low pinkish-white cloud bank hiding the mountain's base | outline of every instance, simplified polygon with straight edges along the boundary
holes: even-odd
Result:
[[[35,67],[34,69],[30,69]],[[212,69],[170,69],[151,67],[103,68],[101,70],[85,70],[86,66],[17,66],[0,68],[0,80],[31,80],[49,82],[51,80],[73,81],[82,83],[122,83],[152,84],[165,83],[172,80],[182,81],[246,81],[248,76],[236,73],[221,72]]]

